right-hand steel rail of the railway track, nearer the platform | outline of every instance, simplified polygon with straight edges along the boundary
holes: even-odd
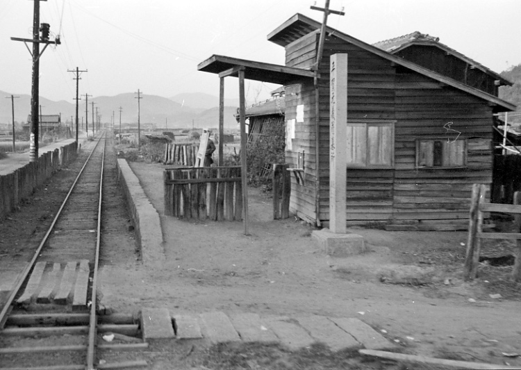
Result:
[[[104,133],[102,136],[106,136]],[[92,276],[92,296],[90,298],[90,320],[89,320],[89,344],[87,349],[87,370],[94,369],[94,355],[96,347],[96,286],[98,278],[98,265],[99,265],[99,244],[101,242],[101,202],[103,200],[103,172],[105,168],[105,145],[103,147],[103,153],[101,154],[101,176],[99,177],[99,202],[98,202],[98,224],[97,224],[97,238],[96,238],[96,254],[94,257],[94,275]]]

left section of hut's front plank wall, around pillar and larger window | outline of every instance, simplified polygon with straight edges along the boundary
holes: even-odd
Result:
[[[347,53],[347,118],[395,119],[395,68],[335,36],[326,37],[320,65],[320,219],[329,220],[329,56]],[[363,122],[363,121],[361,121]],[[392,216],[392,169],[347,169],[347,220]]]

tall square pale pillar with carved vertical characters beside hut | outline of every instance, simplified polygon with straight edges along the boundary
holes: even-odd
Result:
[[[347,181],[347,54],[330,62],[329,230],[345,234]]]

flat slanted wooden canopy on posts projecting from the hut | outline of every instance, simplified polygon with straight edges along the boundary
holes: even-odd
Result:
[[[197,70],[219,74],[220,77],[238,77],[239,68],[244,68],[245,79],[284,85],[290,81],[313,79],[310,70],[286,67],[284,65],[247,61],[229,56],[213,55],[197,65]]]

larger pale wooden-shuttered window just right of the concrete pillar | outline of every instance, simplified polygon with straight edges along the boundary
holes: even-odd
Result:
[[[347,123],[347,166],[392,167],[394,125],[390,123]]]

